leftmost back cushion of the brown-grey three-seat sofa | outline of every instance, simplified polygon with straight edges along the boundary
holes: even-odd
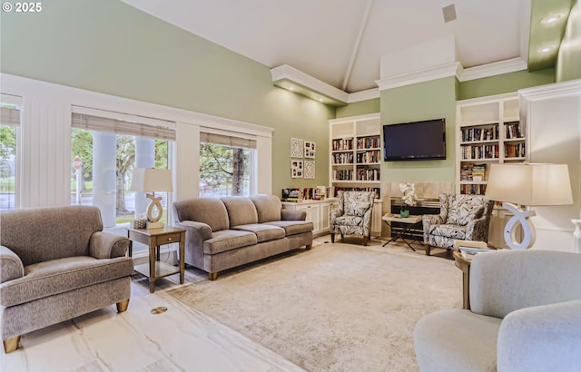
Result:
[[[177,221],[194,220],[210,226],[212,231],[230,229],[228,210],[218,198],[189,199],[175,201],[173,213]]]

